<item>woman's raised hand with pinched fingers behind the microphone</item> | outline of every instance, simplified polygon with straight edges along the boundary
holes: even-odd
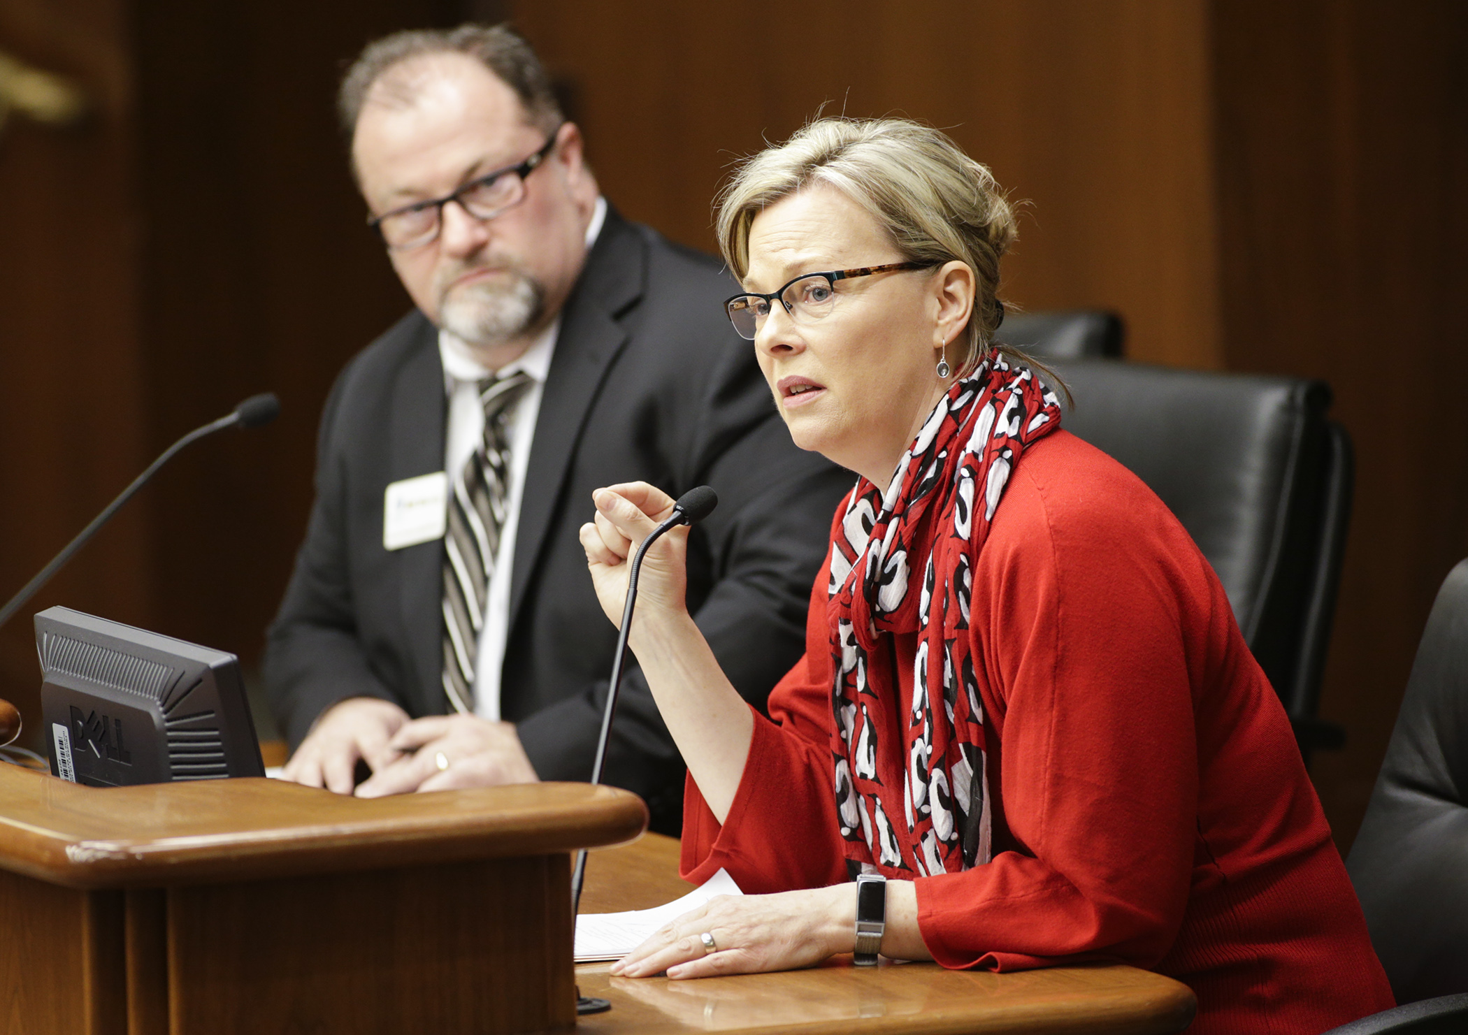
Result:
[[[602,611],[612,624],[621,624],[631,556],[658,523],[672,514],[675,501],[656,486],[631,482],[597,489],[592,502],[596,520],[581,526],[586,567]],[[686,611],[687,546],[688,530],[677,527],[647,551],[639,575],[639,617]]]

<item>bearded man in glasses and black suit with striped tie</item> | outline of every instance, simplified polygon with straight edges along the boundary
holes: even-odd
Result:
[[[341,374],[266,681],[285,775],[358,794],[586,780],[617,630],[578,527],[592,490],[697,484],[688,603],[762,706],[799,658],[850,476],[788,437],[715,261],[600,198],[514,34],[370,46],[342,85],[352,164],[417,310]],[[683,763],[640,672],[606,780],[677,828]]]

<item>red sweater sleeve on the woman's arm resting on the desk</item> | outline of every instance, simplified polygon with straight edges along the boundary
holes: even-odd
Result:
[[[1016,479],[976,565],[969,634],[1001,815],[986,866],[916,882],[944,966],[1151,967],[1182,926],[1199,844],[1192,693],[1223,668],[1232,612],[1155,498],[1108,495]]]

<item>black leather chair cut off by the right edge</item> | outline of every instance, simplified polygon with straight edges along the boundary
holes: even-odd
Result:
[[[1346,869],[1398,1001],[1468,992],[1468,561],[1427,618]]]

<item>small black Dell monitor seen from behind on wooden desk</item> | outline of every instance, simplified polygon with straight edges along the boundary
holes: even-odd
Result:
[[[35,617],[51,774],[91,787],[263,777],[239,659],[69,608]]]

